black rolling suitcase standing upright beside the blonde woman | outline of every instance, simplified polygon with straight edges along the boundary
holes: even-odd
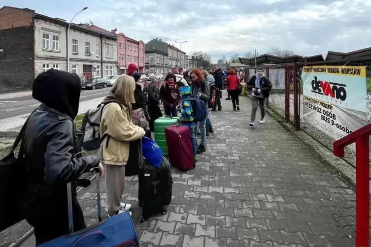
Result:
[[[138,202],[142,207],[140,222],[144,222],[154,213],[167,213],[164,206],[171,201],[172,178],[169,162],[164,156],[161,166],[154,167],[145,161],[141,151],[140,148]]]

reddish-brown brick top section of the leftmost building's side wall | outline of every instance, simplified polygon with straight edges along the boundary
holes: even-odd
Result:
[[[3,7],[0,9],[0,16],[0,30],[33,26],[33,10]]]

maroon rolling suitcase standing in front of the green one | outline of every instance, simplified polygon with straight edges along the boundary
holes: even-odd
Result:
[[[189,128],[174,123],[165,128],[165,137],[171,165],[182,171],[195,168]]]

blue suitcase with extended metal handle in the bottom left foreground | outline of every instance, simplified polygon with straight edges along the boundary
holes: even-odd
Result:
[[[68,203],[70,233],[53,239],[37,247],[138,247],[133,219],[129,211],[101,219],[101,192],[97,174],[97,201],[99,222],[88,228],[73,232],[72,209]],[[67,185],[68,200],[71,200],[71,185]]]

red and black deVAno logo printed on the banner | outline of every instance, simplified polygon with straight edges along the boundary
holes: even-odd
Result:
[[[324,82],[318,81],[317,76],[314,76],[312,80],[312,92],[325,95],[328,97],[340,99],[344,101],[346,99],[346,85],[335,82]]]

